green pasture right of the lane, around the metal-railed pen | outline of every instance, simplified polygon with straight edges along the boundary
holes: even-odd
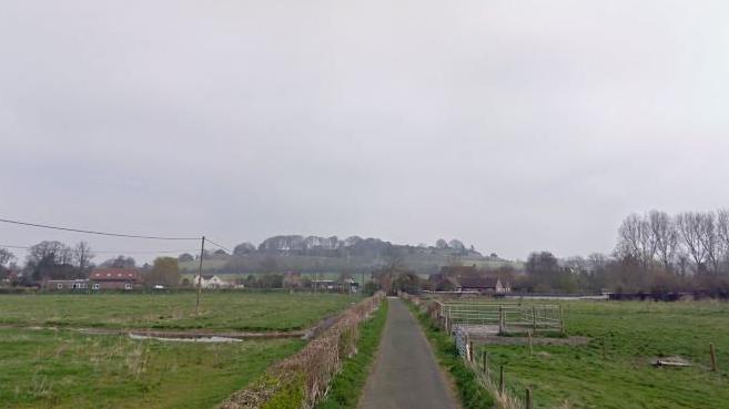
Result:
[[[567,303],[569,335],[581,346],[488,346],[493,374],[535,408],[729,408],[729,305],[719,303]],[[603,357],[603,338],[606,358]],[[710,371],[709,342],[719,371]],[[480,358],[480,351],[477,355]],[[655,368],[679,356],[690,368]]]

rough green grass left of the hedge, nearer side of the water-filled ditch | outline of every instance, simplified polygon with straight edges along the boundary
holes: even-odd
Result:
[[[302,346],[297,339],[192,344],[0,328],[0,407],[214,408]]]

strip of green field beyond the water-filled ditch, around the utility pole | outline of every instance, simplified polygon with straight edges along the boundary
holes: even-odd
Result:
[[[0,325],[209,330],[296,330],[345,309],[358,298],[337,294],[0,295]]]

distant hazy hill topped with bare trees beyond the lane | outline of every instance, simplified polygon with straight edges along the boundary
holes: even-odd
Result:
[[[282,235],[263,241],[259,246],[242,243],[232,255],[211,254],[204,263],[206,272],[219,274],[307,272],[368,273],[397,264],[421,274],[439,270],[442,266],[460,264],[498,268],[515,266],[496,255],[484,256],[460,241],[439,239],[435,245],[399,245],[379,238],[351,236]],[[183,272],[194,272],[195,260],[180,264]]]

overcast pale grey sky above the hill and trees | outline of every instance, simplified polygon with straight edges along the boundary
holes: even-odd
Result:
[[[728,17],[723,0],[3,0],[0,217],[609,252],[630,212],[729,205]],[[80,236],[0,225],[2,244],[43,238]]]

